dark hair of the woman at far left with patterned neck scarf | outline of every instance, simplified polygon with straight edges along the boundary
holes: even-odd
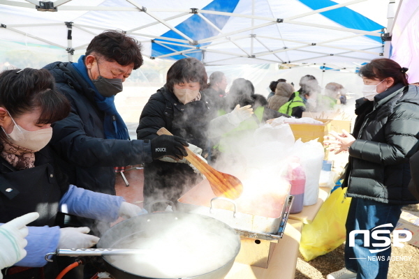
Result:
[[[25,68],[0,73],[0,107],[12,117],[41,108],[37,124],[50,124],[68,116],[71,110],[67,98],[55,88],[54,77],[48,70]],[[2,130],[0,130],[3,133]]]

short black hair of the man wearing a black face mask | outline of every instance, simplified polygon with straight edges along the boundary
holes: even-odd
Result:
[[[133,63],[136,70],[144,63],[141,50],[142,45],[135,38],[127,36],[122,31],[107,30],[91,40],[86,56],[98,54],[106,61],[117,61],[122,66]]]

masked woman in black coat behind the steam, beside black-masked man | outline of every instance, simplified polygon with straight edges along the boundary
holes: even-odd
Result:
[[[183,137],[198,156],[204,156],[203,149],[208,137],[218,137],[227,130],[233,130],[241,121],[253,114],[250,107],[214,118],[205,94],[207,73],[203,63],[195,58],[176,61],[168,70],[166,84],[153,94],[141,112],[137,128],[138,140],[152,140],[162,127],[173,135]],[[213,120],[212,120],[213,119]],[[144,202],[154,199],[169,199],[177,202],[184,191],[195,186],[200,179],[196,169],[184,160],[164,157],[146,163],[144,168]],[[166,206],[163,206],[163,208]]]

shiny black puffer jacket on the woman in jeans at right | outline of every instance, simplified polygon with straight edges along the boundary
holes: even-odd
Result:
[[[409,157],[419,147],[418,88],[396,84],[378,94],[373,107],[368,100],[358,100],[355,112],[361,119],[355,122],[357,140],[349,149],[344,184],[349,197],[386,204],[418,203],[407,187]]]

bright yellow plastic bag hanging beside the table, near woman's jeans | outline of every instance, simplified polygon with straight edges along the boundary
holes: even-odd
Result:
[[[337,188],[318,211],[313,223],[302,228],[300,252],[308,262],[335,250],[346,239],[346,217],[350,197],[344,197],[346,188]]]

